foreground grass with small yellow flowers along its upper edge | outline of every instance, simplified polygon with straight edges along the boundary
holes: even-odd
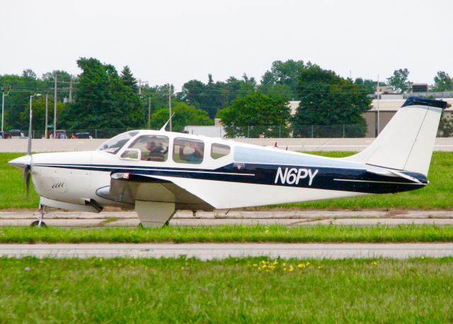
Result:
[[[453,259],[0,259],[0,291],[0,323],[452,323]]]

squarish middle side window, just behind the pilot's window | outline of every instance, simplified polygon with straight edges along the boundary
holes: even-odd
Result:
[[[200,164],[205,155],[205,143],[202,140],[175,138],[173,142],[173,160],[178,163]]]

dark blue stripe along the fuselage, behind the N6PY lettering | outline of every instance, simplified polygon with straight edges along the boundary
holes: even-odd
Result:
[[[295,186],[309,189],[326,189],[338,191],[353,191],[369,194],[386,194],[396,193],[400,191],[411,191],[419,189],[428,184],[423,174],[414,172],[403,172],[421,183],[415,183],[411,180],[402,177],[388,177],[384,175],[367,172],[366,169],[342,169],[333,167],[304,167],[304,166],[281,166],[273,164],[238,164],[231,163],[218,169],[193,169],[193,168],[175,168],[175,167],[137,167],[137,166],[118,166],[107,164],[34,164],[36,167],[58,167],[65,169],[86,169],[91,171],[102,172],[130,172],[132,174],[146,174],[149,176],[162,177],[179,177],[189,179],[203,179],[214,181],[230,181],[247,184],[266,184],[274,186]],[[285,174],[285,169],[288,169],[287,176],[294,169],[299,172],[299,169],[311,170],[316,175],[312,178],[311,185],[309,184],[310,177],[302,171],[302,177],[296,183],[293,176],[286,177],[288,181],[282,181],[282,177],[277,177],[279,167],[280,175]],[[284,180],[285,180],[284,179]],[[257,193],[259,194],[259,193]]]

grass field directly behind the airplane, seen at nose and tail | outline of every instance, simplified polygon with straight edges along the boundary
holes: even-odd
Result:
[[[352,152],[319,152],[319,155],[344,157]],[[21,153],[0,153],[0,209],[36,208],[38,195],[32,189],[30,198],[25,200],[25,185],[21,171],[7,162]],[[364,196],[348,199],[331,199],[307,203],[291,203],[277,207],[309,209],[449,209],[453,208],[453,152],[434,152],[428,179],[430,184],[423,189],[400,194]],[[275,207],[275,206],[273,206]]]

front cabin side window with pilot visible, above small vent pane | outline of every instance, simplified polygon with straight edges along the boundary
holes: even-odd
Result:
[[[142,135],[129,148],[140,150],[142,161],[165,162],[168,159],[168,142],[166,136]]]

